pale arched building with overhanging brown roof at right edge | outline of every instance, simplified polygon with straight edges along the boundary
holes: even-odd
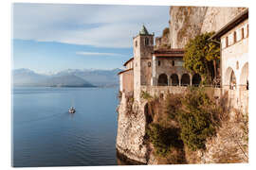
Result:
[[[248,9],[229,21],[212,37],[221,42],[221,86],[232,106],[247,111],[248,104]]]

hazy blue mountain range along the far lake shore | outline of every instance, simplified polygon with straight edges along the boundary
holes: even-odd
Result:
[[[114,87],[119,85],[118,73],[113,70],[67,69],[56,74],[38,74],[22,68],[12,71],[13,86],[41,87]]]

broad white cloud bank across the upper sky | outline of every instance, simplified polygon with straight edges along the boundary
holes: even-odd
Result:
[[[169,7],[14,4],[13,38],[99,47],[131,47],[142,24],[159,36]]]

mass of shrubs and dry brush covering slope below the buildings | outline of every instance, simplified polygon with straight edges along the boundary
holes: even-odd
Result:
[[[214,148],[219,149],[226,141],[234,144],[228,143],[227,149],[222,149],[225,152],[213,152],[212,162],[247,161],[247,116],[237,113],[236,122],[230,121],[227,95],[216,99],[208,90],[191,88],[184,95],[168,93],[166,97],[141,95],[148,99],[146,114],[151,116],[146,139],[154,146],[159,163],[200,162],[198,151],[208,155],[210,145],[219,144]]]

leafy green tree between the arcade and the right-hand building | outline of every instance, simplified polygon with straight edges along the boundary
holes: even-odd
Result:
[[[211,82],[217,76],[217,61],[220,59],[220,44],[210,40],[214,32],[196,36],[185,45],[184,66]]]

